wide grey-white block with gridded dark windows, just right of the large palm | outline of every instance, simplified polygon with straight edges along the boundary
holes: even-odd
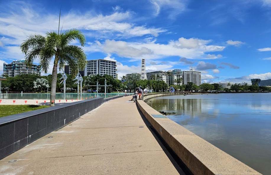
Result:
[[[113,78],[117,78],[116,74],[116,61],[111,61],[111,60],[103,60],[103,59],[98,59],[98,60],[87,60],[87,65],[85,69],[79,70],[79,73],[81,76],[89,76],[89,75],[110,75],[113,76]],[[68,72],[69,69],[69,74],[71,74],[71,69],[68,68],[69,66],[65,66],[65,73]]]

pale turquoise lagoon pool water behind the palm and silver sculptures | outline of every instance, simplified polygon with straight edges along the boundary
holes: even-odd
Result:
[[[103,98],[109,98],[109,97],[114,97],[118,95],[124,95],[125,93],[107,93],[106,95],[103,93],[99,93],[98,97],[103,97]],[[80,95],[80,94],[79,94]],[[82,98],[85,99],[86,97],[95,97],[94,93],[83,93]],[[49,94],[34,94],[34,93],[12,93],[12,94],[1,94],[0,99],[50,99],[50,93]],[[64,94],[63,93],[57,93],[56,94],[56,99],[64,99]],[[66,93],[66,99],[77,99],[77,93]]]

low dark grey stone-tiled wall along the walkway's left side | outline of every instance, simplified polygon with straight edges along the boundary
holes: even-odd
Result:
[[[104,103],[83,100],[0,118],[0,159],[76,120]]]

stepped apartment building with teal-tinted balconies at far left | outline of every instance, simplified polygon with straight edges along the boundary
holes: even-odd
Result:
[[[14,77],[22,74],[34,74],[40,76],[41,74],[40,66],[36,64],[27,66],[25,60],[12,61],[12,63],[10,64],[4,63],[3,72],[4,75],[7,75],[9,77]]]

